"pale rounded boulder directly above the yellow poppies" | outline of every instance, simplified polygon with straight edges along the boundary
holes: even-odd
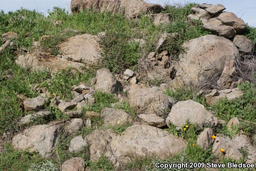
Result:
[[[166,118],[166,124],[170,123],[177,126],[177,129],[183,127],[188,120],[189,123],[196,123],[198,126],[217,125],[218,120],[205,107],[193,100],[179,101],[174,104],[171,112]]]

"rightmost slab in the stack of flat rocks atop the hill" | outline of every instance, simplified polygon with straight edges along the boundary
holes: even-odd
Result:
[[[232,26],[236,30],[237,34],[240,34],[247,29],[245,22],[238,18],[233,12],[222,12],[216,16],[216,19],[226,26]]]

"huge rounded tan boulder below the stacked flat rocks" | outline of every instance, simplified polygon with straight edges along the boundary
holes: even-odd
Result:
[[[202,86],[218,75],[230,60],[239,55],[232,41],[206,35],[183,44],[186,53],[179,56],[176,78],[185,85]]]

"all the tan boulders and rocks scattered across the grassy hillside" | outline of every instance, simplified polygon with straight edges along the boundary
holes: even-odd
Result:
[[[110,0],[108,2],[110,3]],[[130,18],[136,17],[138,12],[143,10],[154,9],[154,13],[158,13],[158,8],[160,8],[157,4],[147,4],[141,0],[120,2],[126,3],[125,5],[121,3],[118,6],[107,6],[111,8],[109,11],[115,11],[123,5],[125,6],[125,15]],[[84,4],[79,3],[81,1],[72,0],[72,11],[85,8],[105,9],[92,0],[88,0]],[[134,11],[132,7],[138,7],[139,10]],[[149,53],[147,60],[154,63],[155,71],[154,74],[149,72],[147,76],[161,77],[172,74],[173,78],[170,80],[172,83],[175,81],[182,82],[180,86],[200,86],[202,82],[207,82],[207,78],[218,75],[221,71],[216,81],[222,90],[206,91],[207,103],[213,105],[218,99],[232,100],[243,95],[239,89],[232,88],[235,86],[232,79],[235,74],[234,62],[235,58],[239,57],[239,52],[251,52],[252,42],[244,36],[236,35],[246,30],[245,23],[233,13],[222,12],[223,10],[225,7],[218,4],[200,4],[193,7],[192,11],[195,14],[189,15],[189,19],[202,20],[205,29],[217,33],[219,36],[206,35],[185,42],[183,46],[186,47],[186,53],[181,54],[180,60],[173,66],[167,51],[160,52],[158,55],[155,52]],[[154,19],[162,21],[159,16],[154,15]],[[166,15],[162,16],[166,17]],[[17,37],[12,33],[3,35],[3,37],[8,35],[12,35],[10,40]],[[166,43],[167,37],[175,35],[177,33],[163,34],[156,45],[158,49]],[[31,52],[19,56],[16,63],[23,67],[30,65],[34,70],[51,67],[53,71],[57,71],[69,66],[79,70],[81,67],[90,68],[97,65],[102,59],[98,39],[99,36],[90,34],[76,35],[59,45],[60,50],[64,52],[62,56],[49,56],[49,59],[46,60],[39,58],[38,53]],[[65,131],[67,134],[72,134],[84,126],[91,127],[93,123],[90,117],[101,117],[104,126],[131,123],[132,126],[122,134],[115,134],[111,129],[95,129],[86,137],[76,136],[70,141],[68,148],[70,152],[81,152],[86,146],[89,146],[91,161],[98,160],[100,156],[105,155],[113,164],[119,166],[135,156],[158,156],[163,159],[182,152],[187,142],[162,129],[170,126],[170,123],[177,130],[180,130],[187,120],[199,127],[215,127],[220,123],[215,114],[207,111],[202,104],[193,100],[177,101],[163,93],[162,87],[166,87],[166,85],[147,86],[138,83],[138,78],[136,73],[130,69],[124,71],[119,78],[115,78],[107,68],[99,69],[90,86],[81,83],[72,87],[74,98],[71,101],[61,100],[60,97],[50,99],[51,106],[59,108],[61,112],[72,119],[65,123],[53,121],[48,124],[30,126],[13,137],[12,145],[15,149],[29,148],[30,151],[38,152],[41,156],[49,157],[53,153],[60,132]],[[121,84],[125,81],[129,81],[129,84]],[[136,123],[132,123],[130,114],[116,108],[103,108],[100,113],[87,111],[85,118],[82,119],[83,107],[95,103],[94,91],[118,93],[122,89],[128,93],[127,100],[138,114],[139,120]],[[34,118],[51,115],[49,111],[45,110],[45,104],[49,98],[47,93],[42,93],[41,96],[35,98],[25,98],[23,100],[24,110],[34,111],[34,114],[20,119],[20,125],[31,123]],[[239,123],[238,119],[232,119],[228,125],[237,123]],[[224,135],[212,139],[213,134],[214,131],[211,128],[204,129],[197,139],[197,144],[203,149],[213,145],[212,152],[215,154],[219,154],[220,148],[225,148],[227,150],[224,157],[233,159],[239,159],[242,156],[239,149],[246,147],[249,149],[246,162],[253,163],[256,160],[256,148],[245,134],[236,135],[232,139]],[[84,161],[80,157],[71,158],[62,164],[62,169],[84,170]]]

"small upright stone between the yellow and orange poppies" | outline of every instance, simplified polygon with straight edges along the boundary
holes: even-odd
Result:
[[[207,149],[214,142],[213,130],[211,128],[206,128],[197,138],[196,144],[202,147],[203,149]]]

